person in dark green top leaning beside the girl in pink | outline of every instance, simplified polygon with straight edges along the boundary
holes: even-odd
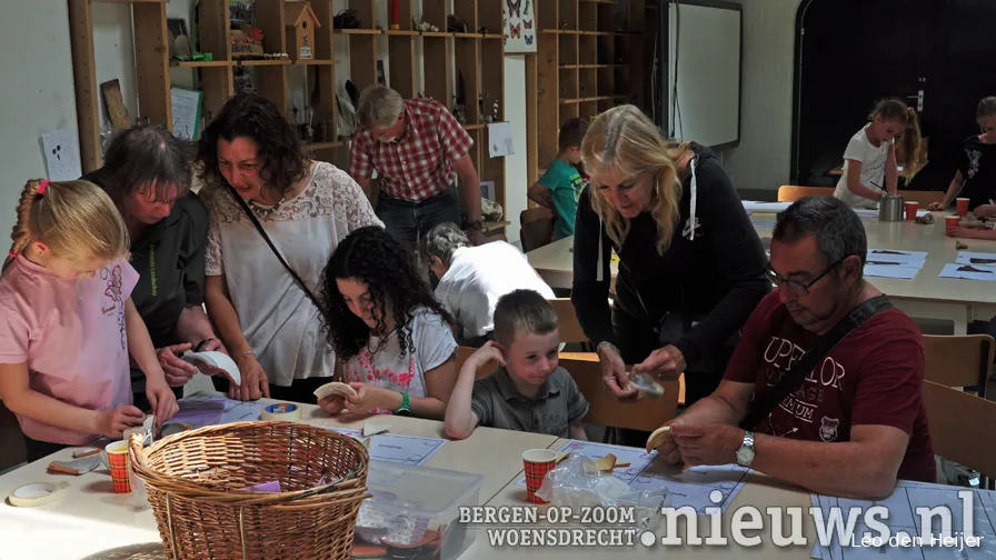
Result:
[[[131,238],[132,292],[166,379],[177,398],[197,369],[187,350],[225,352],[203,309],[208,213],[190,191],[183,142],[152,127],[133,127],[111,140],[102,168],[82,179],[99,184],[118,207]],[[148,410],[145,377],[131,370],[135,406]]]

